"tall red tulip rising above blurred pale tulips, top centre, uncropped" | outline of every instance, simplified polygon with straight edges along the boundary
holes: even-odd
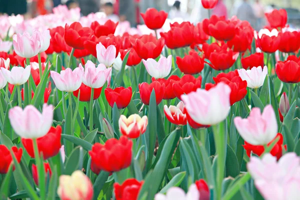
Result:
[[[140,15],[146,26],[153,30],[161,28],[167,17],[167,13],[165,11],[157,11],[157,9],[153,7],[148,8],[145,13],[140,13]]]

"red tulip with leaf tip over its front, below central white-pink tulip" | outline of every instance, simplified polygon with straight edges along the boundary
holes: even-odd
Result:
[[[161,102],[162,97],[164,95],[165,85],[164,83],[160,84],[160,82],[158,81],[152,81],[150,84],[148,84],[147,82],[142,82],[138,84],[138,89],[139,89],[140,99],[146,105],[149,104],[150,95],[152,90],[154,89],[156,105],[158,105]]]

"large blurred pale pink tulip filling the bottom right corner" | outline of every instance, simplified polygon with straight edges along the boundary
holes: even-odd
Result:
[[[250,157],[247,168],[255,187],[266,200],[297,200],[300,189],[300,157],[285,153],[277,162],[270,153]]]

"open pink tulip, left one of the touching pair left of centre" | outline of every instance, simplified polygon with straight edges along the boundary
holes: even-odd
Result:
[[[83,67],[79,65],[79,67],[75,68],[73,71],[70,68],[66,68],[65,70],[61,70],[60,74],[56,71],[50,71],[50,73],[57,89],[60,91],[72,92],[80,87],[83,70]]]

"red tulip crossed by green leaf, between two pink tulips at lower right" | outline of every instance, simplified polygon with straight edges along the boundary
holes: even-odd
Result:
[[[277,133],[276,137],[279,136],[279,140],[277,141],[277,143],[274,145],[274,147],[271,149],[270,153],[273,155],[273,156],[276,156],[277,157],[277,160],[281,157],[282,155],[282,144],[283,144],[283,136],[281,133]],[[275,138],[276,138],[275,137]],[[274,139],[275,139],[274,138]],[[267,146],[269,146],[273,141],[270,141]],[[249,144],[248,142],[244,141],[245,144],[242,145],[244,147],[244,149],[246,150],[246,153],[247,155],[250,157],[251,155],[251,152],[252,153],[255,153],[256,155],[260,156],[263,151],[264,151],[264,147],[263,145],[252,145],[252,144]],[[286,144],[283,146],[286,150]]]

